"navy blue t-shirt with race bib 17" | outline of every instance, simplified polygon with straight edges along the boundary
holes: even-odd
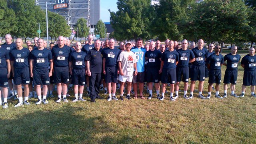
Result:
[[[194,55],[196,57],[196,61],[193,62],[193,65],[200,66],[205,64],[204,58],[206,58],[207,54],[207,50],[205,48],[199,50],[198,47],[195,47],[192,49],[192,52],[194,52]]]

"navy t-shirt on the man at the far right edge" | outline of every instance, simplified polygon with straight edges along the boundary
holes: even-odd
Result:
[[[250,54],[246,54],[242,58],[241,64],[244,64],[244,70],[256,70],[256,55],[250,56]]]

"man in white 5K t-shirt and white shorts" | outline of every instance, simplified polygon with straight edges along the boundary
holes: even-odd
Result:
[[[124,100],[123,91],[124,91],[124,83],[127,81],[127,96],[128,100],[131,99],[130,91],[132,88],[132,76],[137,75],[137,59],[136,55],[131,52],[132,43],[127,42],[125,44],[125,50],[119,54],[118,57],[118,68],[119,68],[119,80],[120,80],[120,100]]]

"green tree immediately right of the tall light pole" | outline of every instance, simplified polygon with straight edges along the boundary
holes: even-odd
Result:
[[[58,36],[69,37],[71,30],[63,16],[48,11],[48,33],[51,39],[55,39]]]

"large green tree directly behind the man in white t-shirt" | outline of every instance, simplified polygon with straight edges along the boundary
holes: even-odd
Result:
[[[118,0],[117,12],[110,12],[110,24],[117,40],[149,38],[153,7],[150,0]]]

